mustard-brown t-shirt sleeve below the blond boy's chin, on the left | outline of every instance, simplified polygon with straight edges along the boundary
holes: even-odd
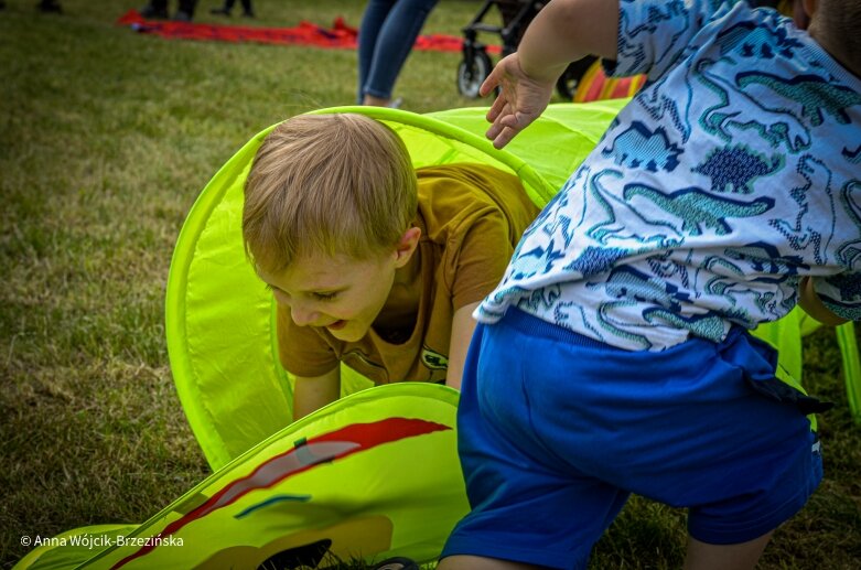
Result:
[[[311,326],[298,326],[290,310],[277,309],[278,352],[281,366],[294,376],[322,376],[338,365],[335,351]]]

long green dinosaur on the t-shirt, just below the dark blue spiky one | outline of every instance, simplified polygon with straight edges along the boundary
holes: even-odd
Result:
[[[702,189],[690,186],[665,194],[646,184],[626,184],[624,197],[632,201],[642,196],[653,202],[663,212],[681,219],[678,230],[689,236],[713,230],[723,236],[730,233],[728,218],[753,217],[774,207],[774,200],[761,196],[752,202],[715,196]],[[656,222],[666,225],[665,221]]]

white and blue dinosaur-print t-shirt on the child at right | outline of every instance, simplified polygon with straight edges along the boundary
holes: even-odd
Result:
[[[814,276],[861,318],[861,79],[774,10],[622,0],[616,76],[644,88],[476,310],[660,351],[784,316]]]

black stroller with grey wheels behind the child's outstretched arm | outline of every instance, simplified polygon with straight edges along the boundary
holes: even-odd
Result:
[[[478,88],[484,79],[491,74],[493,63],[487,55],[487,46],[481,43],[477,37],[480,32],[498,34],[503,41],[503,57],[514,53],[520,39],[529,25],[529,22],[536,17],[539,10],[547,4],[547,1],[529,0],[485,0],[478,13],[475,14],[472,22],[463,29],[463,60],[458,65],[458,92],[471,99],[478,96]],[[496,7],[502,14],[503,24],[493,25],[484,22],[484,19]],[[559,95],[570,101],[574,97],[577,86],[580,79],[586,73],[589,67],[596,61],[596,57],[586,56],[578,62],[573,62],[566,68],[562,76],[557,82],[556,88]]]

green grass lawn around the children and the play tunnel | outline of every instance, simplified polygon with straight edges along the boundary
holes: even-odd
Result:
[[[166,41],[115,25],[142,2],[35,0],[0,11],[0,564],[23,535],[139,523],[207,473],[173,389],[163,298],[185,214],[252,135],[352,104],[355,52]],[[198,21],[220,22],[201,2]],[[175,4],[175,2],[172,2]],[[357,24],[364,2],[257,0],[259,25]],[[474,2],[426,32],[460,35]],[[397,86],[418,112],[485,105],[455,89],[458,54],[415,52]],[[830,331],[805,344],[826,481],[761,564],[861,568],[861,429]],[[677,568],[684,514],[635,498],[593,568]]]

